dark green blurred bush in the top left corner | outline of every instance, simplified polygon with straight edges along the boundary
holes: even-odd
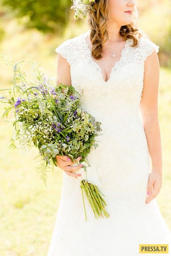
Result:
[[[2,6],[20,19],[26,28],[61,33],[69,22],[71,0],[2,0]]]

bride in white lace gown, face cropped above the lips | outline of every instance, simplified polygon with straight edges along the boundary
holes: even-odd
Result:
[[[56,48],[58,85],[83,90],[82,108],[102,123],[99,147],[88,159],[110,217],[95,219],[85,199],[85,221],[82,165],[57,155],[63,189],[48,256],[163,255],[171,250],[171,231],[156,200],[162,187],[159,46],[138,30],[134,0],[74,0],[72,8],[76,18],[89,15],[90,30]]]

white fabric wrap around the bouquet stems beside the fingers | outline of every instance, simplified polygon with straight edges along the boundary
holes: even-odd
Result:
[[[80,164],[80,162],[78,162]],[[77,166],[78,163],[71,164],[71,166]],[[82,162],[81,164],[84,164],[87,166],[86,162]],[[77,171],[73,171],[73,173],[80,173],[81,176],[77,176],[78,181],[82,181],[82,179],[86,180],[89,183],[92,183],[93,185],[100,186],[101,182],[99,180],[97,171],[93,169],[91,166],[86,167],[86,171],[84,168],[80,168]]]

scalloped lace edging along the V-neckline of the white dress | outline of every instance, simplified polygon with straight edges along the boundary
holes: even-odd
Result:
[[[113,73],[114,69],[117,67],[117,65],[119,65],[119,64],[121,63],[121,61],[122,61],[122,59],[123,59],[123,56],[124,56],[123,53],[125,52],[126,48],[129,46],[129,43],[130,43],[130,40],[131,40],[131,39],[130,39],[130,38],[126,39],[124,48],[121,50],[121,58],[120,58],[117,62],[115,62],[115,64],[113,65],[113,67],[112,67],[112,69],[111,69],[111,71],[110,71],[109,79],[108,79],[107,81],[105,81],[104,78],[103,78],[103,74],[102,74],[101,67],[99,66],[99,64],[97,64],[97,63],[93,60],[92,54],[91,54],[91,49],[89,49],[89,46],[88,46],[87,41],[86,41],[86,37],[87,37],[87,35],[89,34],[89,32],[90,32],[90,30],[88,30],[86,33],[83,34],[83,41],[84,41],[85,48],[86,48],[86,49],[88,50],[88,52],[89,52],[89,59],[90,59],[90,61],[92,62],[93,65],[95,65],[95,66],[97,67],[97,69],[98,69],[98,71],[99,71],[99,73],[100,73],[101,79],[103,80],[103,82],[104,82],[105,84],[107,84],[107,83],[110,81],[110,79],[111,79],[111,76],[112,76],[112,73]]]

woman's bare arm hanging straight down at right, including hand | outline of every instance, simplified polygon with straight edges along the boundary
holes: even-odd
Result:
[[[156,197],[162,186],[162,145],[158,120],[158,86],[160,65],[154,50],[145,60],[144,86],[140,102],[140,115],[147,137],[152,161],[152,172],[149,176],[148,191],[153,191],[146,202]]]

